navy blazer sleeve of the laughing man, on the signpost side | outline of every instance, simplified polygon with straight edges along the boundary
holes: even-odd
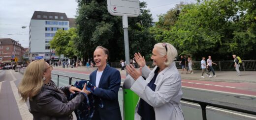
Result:
[[[109,79],[110,84],[108,89],[96,88],[94,91],[94,95],[99,96],[101,98],[114,100],[118,97],[118,91],[121,84],[121,75],[117,70],[111,70],[107,72],[106,75],[101,76]]]

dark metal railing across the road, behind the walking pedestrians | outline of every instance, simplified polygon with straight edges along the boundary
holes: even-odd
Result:
[[[180,61],[175,61],[176,67],[181,69],[179,65]],[[234,61],[213,61],[217,63],[217,65],[213,65],[213,69],[216,71],[235,71]],[[150,68],[154,68],[153,62],[146,62],[146,65]],[[119,62],[110,63],[111,67],[121,68],[121,64]],[[135,66],[138,66],[137,64]],[[201,70],[201,61],[193,61],[193,70]],[[240,71],[256,71],[256,60],[242,60],[240,64]]]

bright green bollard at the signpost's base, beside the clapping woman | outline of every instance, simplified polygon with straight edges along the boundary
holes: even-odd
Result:
[[[134,120],[135,107],[139,100],[139,96],[130,90],[134,79],[130,75],[126,76],[124,82],[124,120]]]

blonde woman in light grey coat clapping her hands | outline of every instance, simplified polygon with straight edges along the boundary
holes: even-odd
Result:
[[[134,120],[184,120],[180,107],[181,75],[174,62],[177,50],[171,44],[158,43],[152,53],[156,65],[152,71],[140,53],[134,55],[139,70],[127,65],[127,72],[135,80],[130,90],[140,96]]]

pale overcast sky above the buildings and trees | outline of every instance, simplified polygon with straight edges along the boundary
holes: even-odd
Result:
[[[151,10],[153,20],[158,21],[157,15],[166,13],[181,1],[195,0],[140,0],[146,1]],[[75,0],[0,0],[0,38],[11,38],[24,48],[29,47],[28,26],[34,11],[62,12],[68,18],[75,18],[77,2]]]

